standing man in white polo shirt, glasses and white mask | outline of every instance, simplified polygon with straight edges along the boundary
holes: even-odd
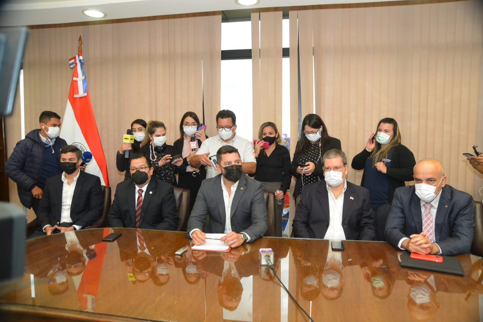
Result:
[[[216,114],[216,129],[218,130],[218,135],[206,139],[199,147],[196,155],[191,158],[191,167],[199,168],[201,165],[206,167],[206,179],[213,178],[219,174],[217,169],[213,168],[209,157],[216,154],[216,151],[225,145],[231,145],[237,148],[240,153],[241,168],[244,174],[255,173],[256,159],[253,143],[237,135],[236,122],[237,117],[230,110],[221,110],[218,112]]]

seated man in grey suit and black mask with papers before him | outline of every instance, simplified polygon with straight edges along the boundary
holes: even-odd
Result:
[[[241,157],[235,147],[219,148],[216,160],[221,174],[201,183],[188,220],[188,237],[195,245],[206,242],[201,230],[208,213],[205,232],[227,234],[221,241],[238,247],[262,237],[269,227],[262,185],[242,175]]]

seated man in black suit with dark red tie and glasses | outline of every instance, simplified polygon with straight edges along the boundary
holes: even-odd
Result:
[[[109,211],[109,227],[175,230],[179,213],[173,187],[153,177],[151,161],[143,154],[129,160],[132,180],[117,184]]]

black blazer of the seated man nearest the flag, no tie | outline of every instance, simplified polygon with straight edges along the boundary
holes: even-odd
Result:
[[[99,177],[85,173],[85,171],[79,171],[79,178],[75,183],[74,195],[72,196],[71,220],[72,224],[82,226],[85,229],[102,216],[104,198]],[[37,211],[37,219],[41,229],[45,225],[54,227],[60,223],[63,185],[62,173],[47,179]]]

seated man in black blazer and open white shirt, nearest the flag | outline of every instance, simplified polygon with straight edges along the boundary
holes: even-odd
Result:
[[[89,228],[102,216],[104,198],[98,176],[80,171],[82,152],[73,145],[60,149],[61,174],[45,183],[37,211],[39,228],[31,238]]]

